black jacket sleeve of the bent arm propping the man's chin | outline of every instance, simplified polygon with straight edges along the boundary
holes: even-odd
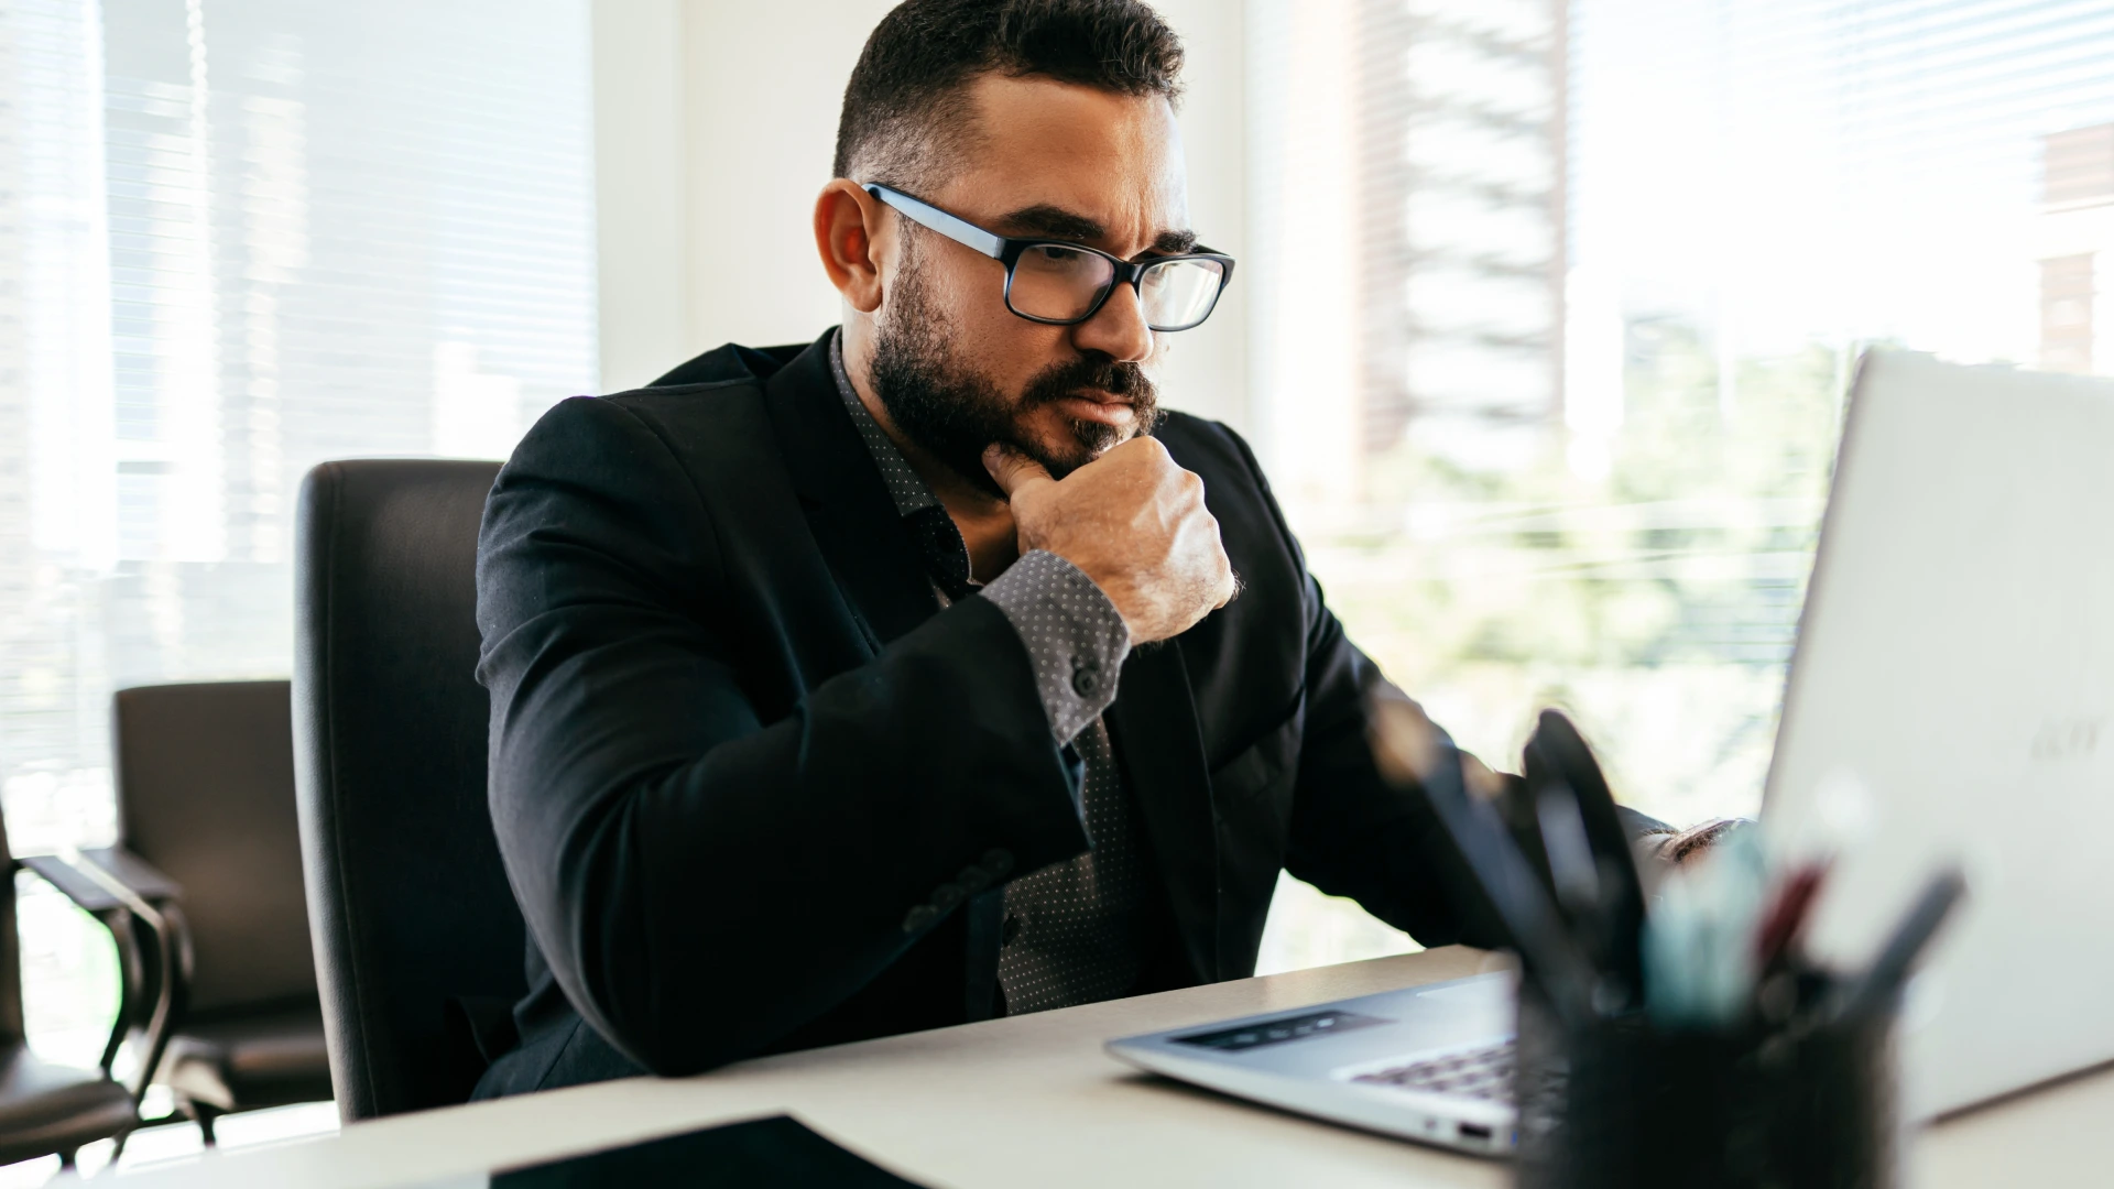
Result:
[[[772,609],[734,614],[729,565],[613,400],[531,429],[478,542],[507,876],[567,999],[662,1075],[765,1047],[968,895],[1087,848],[998,607],[964,599],[763,721],[734,658]]]

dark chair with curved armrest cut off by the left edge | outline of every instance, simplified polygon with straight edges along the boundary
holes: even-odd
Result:
[[[120,1085],[110,1066],[135,1026],[144,1039],[142,1051],[159,1047],[171,1005],[165,994],[156,994],[161,984],[148,988],[154,982],[150,967],[161,954],[120,893],[49,855],[21,859],[19,865],[95,916],[118,946],[118,1018],[99,1068],[40,1060],[23,1037],[21,939],[15,933],[17,859],[6,844],[6,823],[0,821],[0,1164],[57,1153],[59,1164],[72,1168],[82,1145],[123,1140],[140,1126],[137,1087]]]

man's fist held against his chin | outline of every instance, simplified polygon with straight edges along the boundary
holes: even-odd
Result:
[[[1021,552],[1049,550],[1108,594],[1131,643],[1182,635],[1232,601],[1232,563],[1203,480],[1167,446],[1131,438],[1061,480],[1008,446],[983,465],[1013,504]]]

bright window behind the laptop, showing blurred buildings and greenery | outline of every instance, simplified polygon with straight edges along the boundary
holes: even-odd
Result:
[[[1264,461],[1499,766],[1562,705],[1638,808],[1755,812],[1856,353],[2114,374],[2106,4],[1273,0],[1249,59]]]

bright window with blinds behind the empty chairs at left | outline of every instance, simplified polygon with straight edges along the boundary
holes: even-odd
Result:
[[[290,671],[309,465],[503,457],[594,389],[590,127],[586,0],[0,0],[17,853],[110,838],[112,690]],[[108,986],[53,937],[34,996]],[[93,999],[32,1024],[93,1058]]]

